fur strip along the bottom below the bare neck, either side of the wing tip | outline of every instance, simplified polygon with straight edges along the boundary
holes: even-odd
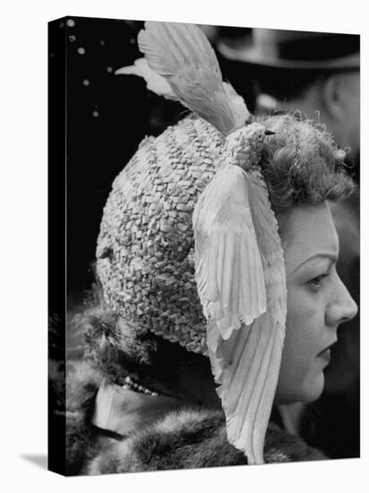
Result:
[[[285,463],[325,459],[297,437],[272,426],[265,461]],[[229,445],[221,411],[176,411],[127,439],[110,442],[84,469],[86,474],[195,469],[246,464]]]

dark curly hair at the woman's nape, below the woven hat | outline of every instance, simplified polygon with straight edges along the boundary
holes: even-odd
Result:
[[[88,346],[87,358],[111,384],[124,385],[124,378],[131,376],[159,394],[174,394],[178,389],[176,378],[185,367],[195,375],[206,368],[211,376],[206,357],[133,328],[103,305],[84,310],[79,330],[82,325]]]

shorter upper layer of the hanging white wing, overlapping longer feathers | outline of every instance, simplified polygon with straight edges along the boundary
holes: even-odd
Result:
[[[243,169],[227,164],[219,170],[196,204],[193,229],[196,281],[204,315],[216,321],[227,339],[241,322],[251,324],[266,309],[262,259]],[[259,282],[250,286],[250,278],[259,278]],[[253,296],[247,296],[252,290]]]

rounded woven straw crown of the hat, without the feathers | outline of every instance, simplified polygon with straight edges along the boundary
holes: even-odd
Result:
[[[98,275],[126,324],[207,354],[193,264],[193,208],[220,166],[225,139],[186,117],[139,150],[116,177],[100,226]]]

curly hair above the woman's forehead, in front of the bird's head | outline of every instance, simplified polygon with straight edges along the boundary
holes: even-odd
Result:
[[[300,114],[263,118],[270,136],[262,153],[262,174],[279,217],[299,205],[348,198],[355,185],[345,170],[346,152],[324,125]]]

